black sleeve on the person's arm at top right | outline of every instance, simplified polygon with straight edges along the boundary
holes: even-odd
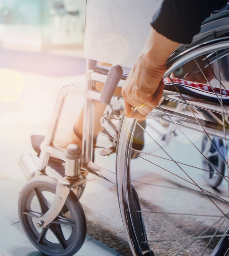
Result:
[[[226,4],[227,0],[164,0],[151,26],[172,41],[190,44],[201,23]]]

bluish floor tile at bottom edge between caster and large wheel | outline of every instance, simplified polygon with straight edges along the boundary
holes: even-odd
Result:
[[[109,248],[101,242],[91,239],[83,244],[81,249],[75,256],[118,256],[120,255],[115,250]]]

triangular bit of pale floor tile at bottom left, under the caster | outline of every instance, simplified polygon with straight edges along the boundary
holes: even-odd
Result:
[[[30,241],[13,247],[4,253],[6,256],[44,256]]]

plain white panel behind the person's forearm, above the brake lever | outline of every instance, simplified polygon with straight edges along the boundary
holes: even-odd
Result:
[[[86,7],[85,57],[132,68],[162,0],[90,0]]]

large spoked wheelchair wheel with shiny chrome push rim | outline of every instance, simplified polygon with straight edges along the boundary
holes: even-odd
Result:
[[[196,46],[168,63],[165,100],[147,116],[153,125],[159,122],[155,129],[152,125],[144,129],[136,120],[123,117],[116,154],[117,191],[134,256],[228,253],[226,147],[211,141],[225,165],[225,175],[202,152],[203,136],[221,139],[224,145],[229,140],[228,56],[229,38],[221,38]],[[173,107],[171,102],[184,107]],[[156,132],[165,123],[175,127],[168,145]],[[144,131],[145,145],[133,159],[132,154],[138,152],[132,148],[136,125]],[[212,169],[203,168],[203,158]],[[203,177],[203,171],[211,170],[223,180],[218,189]]]

